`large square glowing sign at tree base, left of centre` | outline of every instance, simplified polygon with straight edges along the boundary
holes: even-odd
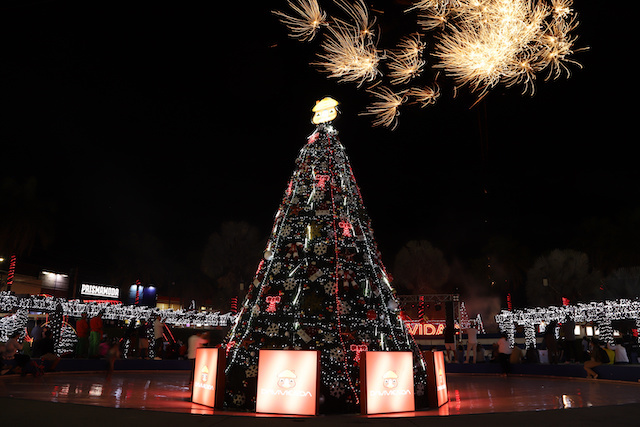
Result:
[[[317,415],[320,352],[260,350],[256,412]]]

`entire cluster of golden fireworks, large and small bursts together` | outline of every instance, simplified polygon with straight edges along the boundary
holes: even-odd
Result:
[[[419,0],[405,11],[407,19],[415,16],[408,26],[419,31],[399,40],[388,40],[395,33],[390,36],[375,27],[376,16],[364,1],[335,3],[335,16],[328,16],[317,0],[289,2],[291,13],[274,13],[290,36],[301,41],[326,29],[320,61],[312,65],[330,78],[358,87],[391,85],[393,89],[382,91],[393,92],[384,95],[387,100],[410,100],[381,103],[381,92],[367,87],[373,101],[365,111],[374,116],[373,126],[395,128],[396,120],[389,116],[397,116],[402,104],[432,105],[437,98],[433,95],[439,94],[439,70],[453,81],[454,94],[466,86],[478,101],[498,85],[533,95],[538,75],[546,74],[545,80],[568,78],[570,66],[580,67],[574,54],[585,50],[575,47],[578,21],[571,0]],[[376,13],[384,15],[385,10]],[[426,36],[433,39],[431,46],[422,41]],[[382,39],[396,47],[380,49]],[[433,64],[423,59],[427,47]],[[414,84],[426,74],[433,76],[430,84]]]

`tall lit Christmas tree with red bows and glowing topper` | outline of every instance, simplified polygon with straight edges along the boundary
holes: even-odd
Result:
[[[424,395],[424,360],[399,317],[349,159],[330,124],[337,104],[325,98],[313,108],[317,128],[296,160],[227,337],[228,407],[255,407],[260,349],[320,350],[323,412],[357,411],[366,350],[413,351],[416,395]]]

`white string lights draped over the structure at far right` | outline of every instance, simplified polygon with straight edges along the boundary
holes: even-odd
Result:
[[[517,327],[524,328],[527,348],[536,346],[536,325],[549,324],[553,321],[562,323],[565,319],[576,323],[593,323],[600,329],[600,339],[605,343],[613,343],[614,320],[633,320],[640,326],[640,301],[626,299],[578,303],[560,307],[536,307],[521,310],[502,310],[496,315],[496,322],[501,331],[507,332],[510,342],[515,344],[514,332]],[[636,338],[637,339],[637,338]]]

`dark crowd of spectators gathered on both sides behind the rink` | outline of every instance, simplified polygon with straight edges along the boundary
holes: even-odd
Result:
[[[506,334],[493,343],[488,355],[478,343],[478,330],[474,325],[465,329],[466,351],[462,342],[454,343],[454,335],[445,331],[445,359],[448,363],[499,363],[503,375],[508,375],[514,363],[580,363],[587,378],[598,378],[594,371],[607,363],[629,363],[627,349],[620,339],[616,344],[600,342],[596,338],[576,339],[575,324],[569,319],[559,327],[557,323],[547,325],[540,344],[536,348],[523,350],[512,347]],[[28,329],[28,328],[27,328]],[[108,362],[108,372],[113,371],[115,360],[119,358],[141,359],[188,359],[194,360],[196,349],[208,346],[207,332],[195,332],[187,340],[168,340],[165,336],[163,319],[136,321],[131,319],[122,328],[111,328],[112,336],[105,333],[102,313],[89,318],[87,313],[75,321],[77,343],[72,354],[64,357],[101,358]],[[115,331],[115,332],[114,332]],[[117,332],[122,331],[122,332]],[[560,332],[560,339],[557,332]],[[173,338],[173,337],[172,337]],[[30,330],[18,330],[11,334],[6,343],[0,343],[0,374],[20,373],[42,375],[46,370],[55,370],[60,356],[55,351],[55,342],[49,324],[36,319]]]

